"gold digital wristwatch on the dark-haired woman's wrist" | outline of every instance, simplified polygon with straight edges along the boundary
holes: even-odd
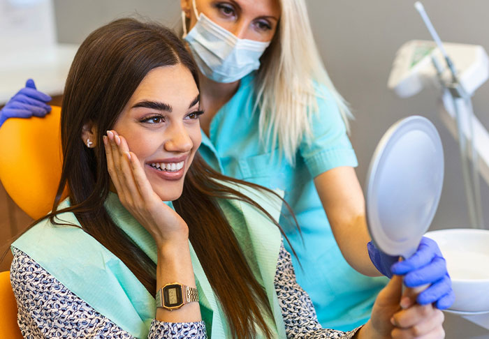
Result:
[[[180,283],[170,283],[156,291],[156,307],[177,310],[186,303],[198,302],[198,292],[194,287]]]

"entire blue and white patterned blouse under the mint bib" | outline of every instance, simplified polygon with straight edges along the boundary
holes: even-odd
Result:
[[[13,254],[10,281],[17,299],[17,323],[24,338],[134,338],[96,312],[21,250],[13,248]],[[321,329],[309,295],[295,281],[291,255],[283,242],[274,283],[287,338],[351,339],[358,330]],[[205,339],[207,334],[204,322],[170,323],[154,319],[148,339],[160,338]]]

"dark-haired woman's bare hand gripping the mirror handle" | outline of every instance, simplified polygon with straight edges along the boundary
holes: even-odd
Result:
[[[407,291],[409,292],[409,291]],[[393,276],[381,290],[372,309],[372,318],[358,332],[360,339],[444,338],[443,312],[431,304],[402,309],[402,277]]]

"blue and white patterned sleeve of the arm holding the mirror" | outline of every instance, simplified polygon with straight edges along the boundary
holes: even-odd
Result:
[[[277,272],[275,273],[275,290],[282,308],[285,332],[289,339],[351,339],[358,329],[349,332],[323,329],[319,324],[316,310],[309,295],[295,280],[291,255],[284,248],[284,241],[279,252]]]

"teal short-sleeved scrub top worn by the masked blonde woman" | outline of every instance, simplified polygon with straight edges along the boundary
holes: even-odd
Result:
[[[254,76],[243,78],[233,98],[217,112],[209,136],[202,133],[200,154],[226,176],[285,191],[301,229],[298,232],[284,207],[279,222],[297,253],[292,261],[298,283],[311,297],[323,327],[349,331],[367,322],[386,279],[363,276],[349,266],[314,186],[314,177],[329,169],[358,165],[342,116],[328,90],[318,86],[324,94],[317,96],[312,139],[301,142],[291,165],[278,149],[260,142],[258,112],[253,112]]]

